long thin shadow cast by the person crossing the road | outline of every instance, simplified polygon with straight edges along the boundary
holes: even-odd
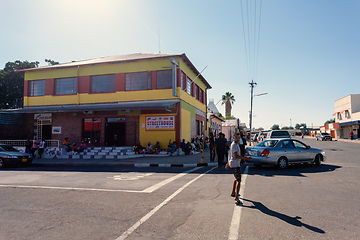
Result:
[[[314,227],[314,226],[310,226],[308,224],[305,224],[303,222],[301,222],[299,219],[301,219],[301,217],[299,216],[296,216],[296,217],[290,217],[288,215],[285,215],[285,214],[282,214],[282,213],[279,213],[279,212],[275,212],[269,208],[267,208],[264,204],[262,204],[261,202],[256,202],[256,201],[252,201],[252,200],[249,200],[249,199],[244,199],[244,201],[247,201],[247,202],[251,202],[253,204],[253,206],[242,206],[242,207],[246,207],[246,208],[255,208],[255,209],[258,209],[260,210],[262,213],[264,214],[267,214],[269,216],[272,216],[272,217],[276,217],[280,220],[283,220],[284,222],[287,222],[291,225],[294,225],[296,227],[305,227],[313,232],[317,232],[317,233],[321,233],[321,234],[325,234],[325,231],[320,229],[320,228],[317,228],[317,227]]]

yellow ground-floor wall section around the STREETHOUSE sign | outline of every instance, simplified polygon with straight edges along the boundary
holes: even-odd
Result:
[[[151,142],[152,146],[156,144],[157,141],[160,142],[161,149],[167,149],[167,146],[169,144],[169,139],[171,139],[171,142],[175,141],[175,130],[151,130],[146,131],[146,123],[145,123],[145,117],[146,116],[164,116],[167,114],[142,114],[139,117],[140,122],[140,130],[139,130],[139,138],[141,141],[141,145],[145,148],[148,144],[148,142]],[[168,115],[174,115],[174,114],[168,114]],[[175,126],[176,127],[176,126]]]

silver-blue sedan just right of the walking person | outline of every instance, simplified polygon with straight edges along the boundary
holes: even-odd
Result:
[[[285,169],[289,164],[312,162],[320,166],[326,160],[325,152],[311,148],[305,143],[290,138],[268,139],[254,147],[246,148],[247,155],[252,157],[249,163],[256,167],[276,165]]]

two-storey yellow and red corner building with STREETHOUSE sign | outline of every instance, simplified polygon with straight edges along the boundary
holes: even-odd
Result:
[[[90,145],[203,135],[211,88],[185,54],[130,54],[22,70],[34,136]]]

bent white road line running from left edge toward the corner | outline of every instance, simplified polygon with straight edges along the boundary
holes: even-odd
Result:
[[[203,167],[196,167],[193,169],[190,169],[188,171],[185,171],[183,173],[179,173],[173,177],[170,177],[168,179],[165,179],[151,187],[148,187],[144,190],[123,190],[123,189],[99,189],[99,188],[79,188],[79,187],[51,187],[51,186],[31,186],[31,185],[0,185],[0,187],[6,187],[6,188],[38,188],[38,189],[57,189],[57,190],[79,190],[79,191],[99,191],[99,192],[128,192],[128,193],[152,193],[155,190],[165,186],[166,184],[179,179],[188,173],[194,172],[196,170],[199,170]]]

